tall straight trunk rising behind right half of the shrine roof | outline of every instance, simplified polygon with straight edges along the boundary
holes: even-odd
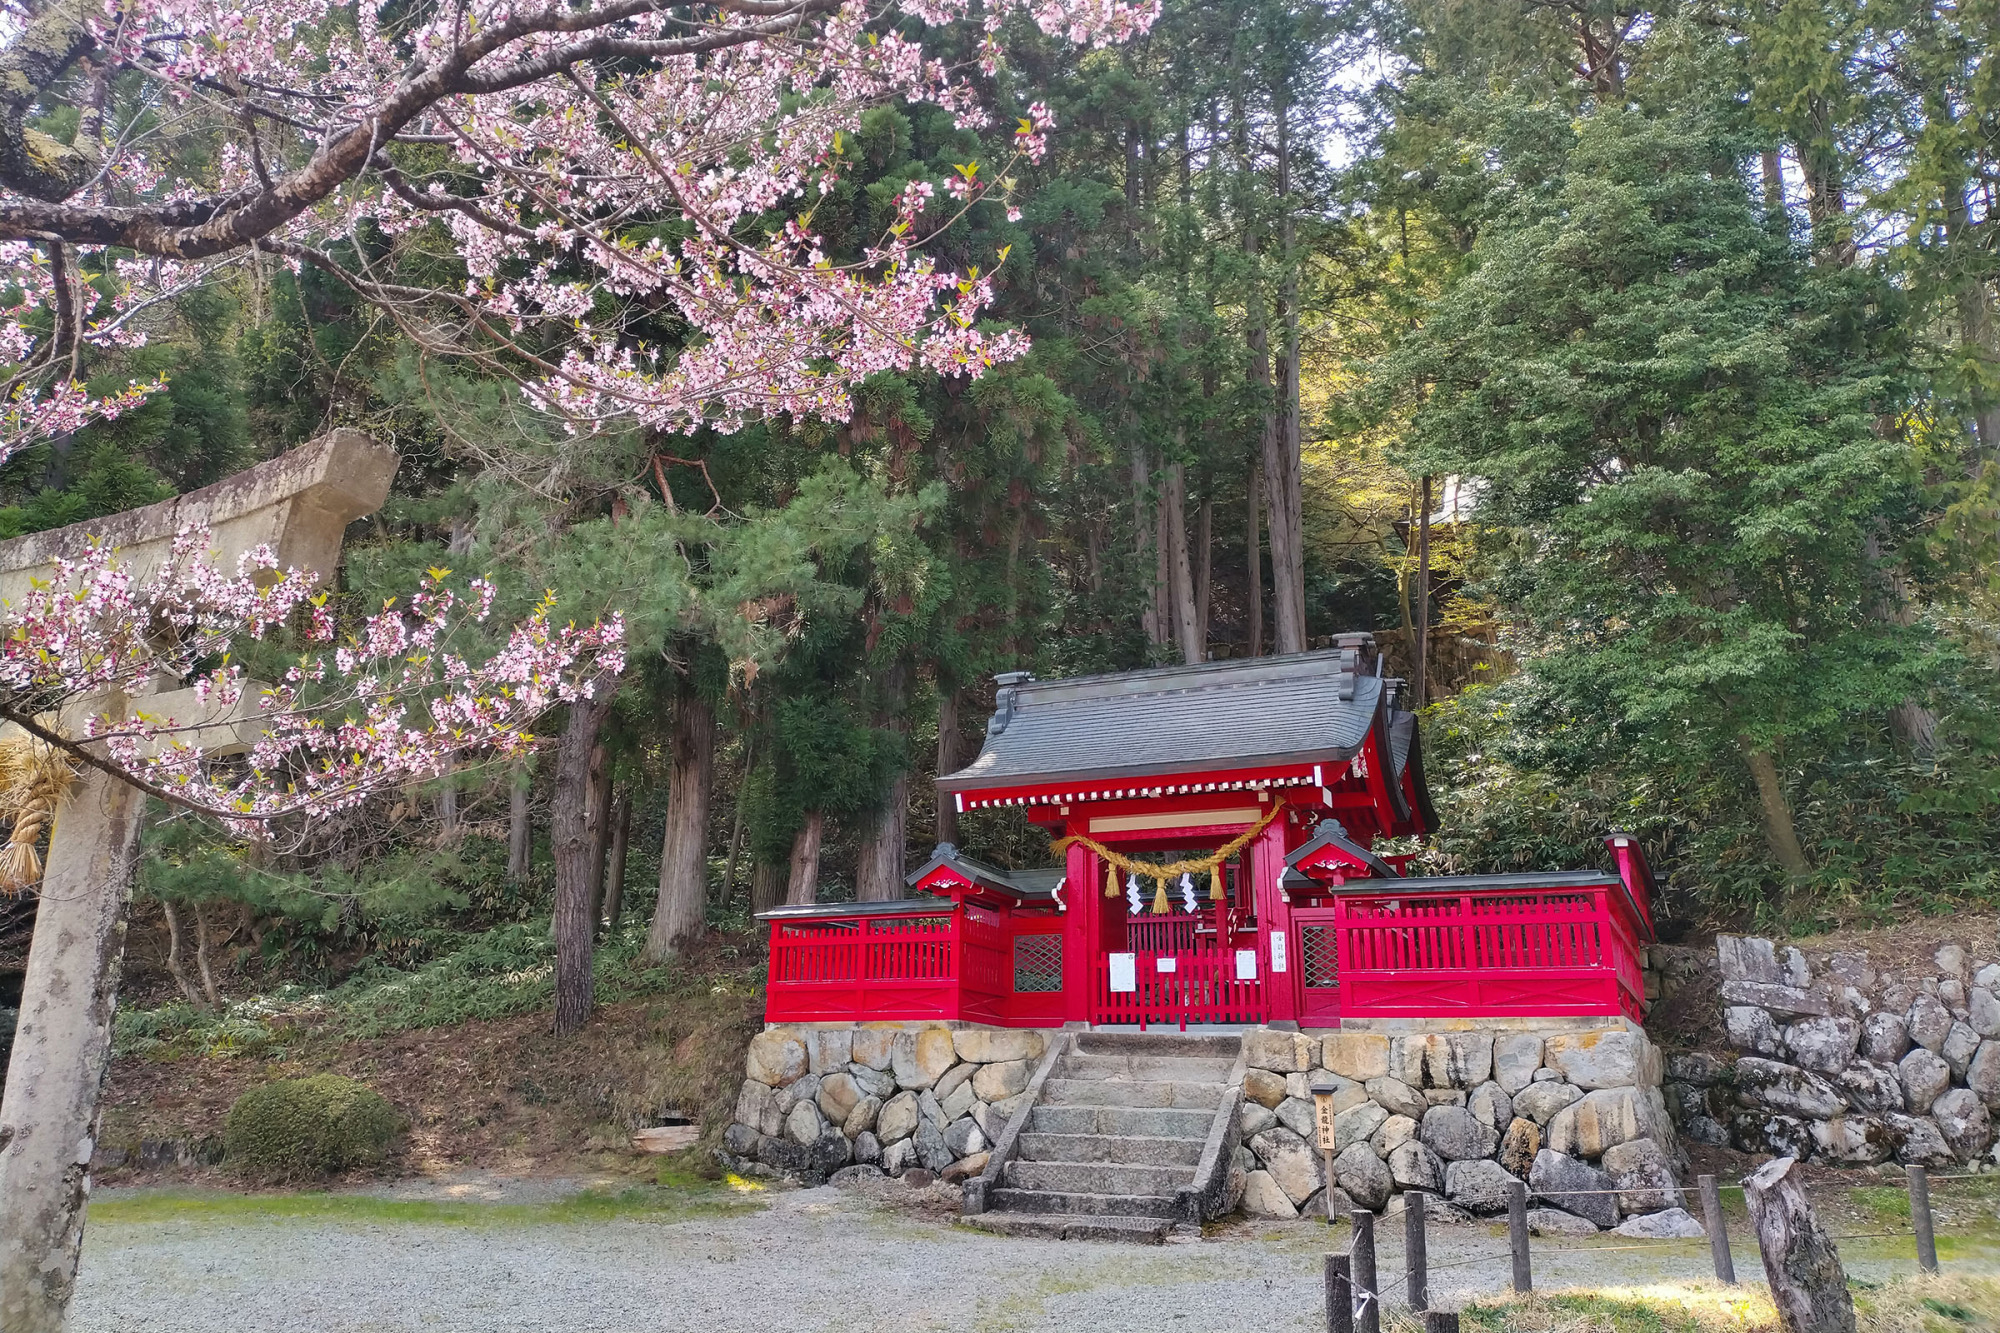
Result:
[[[1278,108],[1278,226],[1284,278],[1278,286],[1278,324],[1284,346],[1278,352],[1276,420],[1264,430],[1264,490],[1270,512],[1270,600],[1278,652],[1306,650],[1306,516],[1304,462],[1300,456],[1298,404],[1298,246],[1292,208],[1290,106],[1282,88]]]

